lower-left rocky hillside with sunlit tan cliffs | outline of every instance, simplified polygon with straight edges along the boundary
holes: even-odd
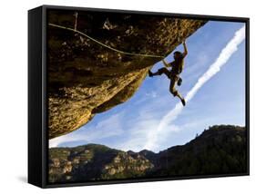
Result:
[[[88,151],[87,151],[88,150]],[[145,176],[154,165],[139,153],[88,144],[49,150],[49,181],[125,179]]]

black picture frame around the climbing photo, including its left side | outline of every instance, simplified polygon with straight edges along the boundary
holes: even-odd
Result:
[[[65,184],[47,182],[47,69],[46,69],[46,12],[50,9],[126,13],[140,15],[164,15],[178,18],[211,21],[243,22],[246,24],[246,129],[247,129],[247,171],[241,174],[202,175],[158,179],[124,179],[91,181]],[[217,177],[250,175],[250,19],[219,15],[184,15],[114,9],[97,9],[72,6],[42,5],[28,11],[28,182],[40,188],[73,187],[132,183],[173,179],[206,179]]]

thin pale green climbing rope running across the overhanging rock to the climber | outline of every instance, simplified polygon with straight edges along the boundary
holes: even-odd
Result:
[[[143,57],[151,57],[151,58],[164,58],[165,56],[160,56],[160,55],[156,55],[156,54],[147,54],[147,53],[128,53],[128,52],[124,52],[124,51],[120,51],[118,49],[115,49],[115,48],[112,48],[111,46],[108,46],[107,44],[103,44],[99,41],[97,41],[96,39],[92,38],[91,36],[87,35],[87,34],[84,34],[80,31],[78,31],[77,29],[72,29],[72,28],[69,28],[69,27],[65,27],[65,26],[62,26],[62,25],[58,25],[58,24],[48,24],[50,26],[53,26],[53,27],[57,27],[57,28],[61,28],[61,29],[65,29],[65,30],[69,30],[69,31],[73,31],[77,34],[81,34],[81,35],[84,35],[86,36],[88,39],[90,39],[91,41],[94,41],[95,43],[97,44],[100,44],[114,52],[117,52],[117,53],[122,53],[122,54],[127,54],[127,55],[133,55],[133,56],[143,56]]]

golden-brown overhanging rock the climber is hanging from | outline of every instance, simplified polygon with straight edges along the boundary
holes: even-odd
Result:
[[[167,55],[206,21],[78,12],[77,30],[129,53]],[[48,23],[75,27],[74,12],[49,11]],[[75,131],[98,112],[128,101],[160,58],[114,52],[81,34],[47,26],[49,139]]]

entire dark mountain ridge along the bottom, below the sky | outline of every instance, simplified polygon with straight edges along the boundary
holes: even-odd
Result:
[[[247,170],[246,130],[219,125],[159,153],[104,145],[49,149],[49,182],[231,174]]]

